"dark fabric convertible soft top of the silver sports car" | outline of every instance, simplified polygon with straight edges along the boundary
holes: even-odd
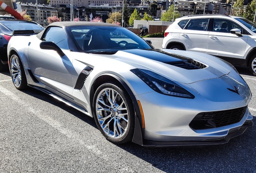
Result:
[[[45,30],[52,26],[58,26],[58,27],[68,27],[68,26],[115,26],[115,27],[122,27],[115,24],[108,24],[104,22],[53,22],[50,25],[48,25],[42,32],[37,34],[37,38],[41,39],[43,36],[43,33]]]

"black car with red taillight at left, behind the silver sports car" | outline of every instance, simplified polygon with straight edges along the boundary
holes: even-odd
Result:
[[[39,33],[43,30],[43,26],[36,22],[26,20],[0,20],[0,71],[8,69],[7,45],[10,38],[15,35],[28,33]]]

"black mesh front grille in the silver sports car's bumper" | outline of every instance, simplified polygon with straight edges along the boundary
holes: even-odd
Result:
[[[237,109],[199,113],[189,126],[195,130],[211,129],[238,123],[243,118],[247,106]]]

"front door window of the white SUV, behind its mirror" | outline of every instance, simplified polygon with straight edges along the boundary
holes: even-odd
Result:
[[[230,20],[225,19],[214,19],[213,20],[213,31],[215,32],[229,32],[231,29],[237,28],[242,31],[243,28],[236,24],[235,22],[232,22]]]

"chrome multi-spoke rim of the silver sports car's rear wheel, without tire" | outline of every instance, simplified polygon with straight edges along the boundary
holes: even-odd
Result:
[[[10,62],[10,72],[12,76],[12,81],[15,85],[15,87],[19,88],[21,85],[21,66],[18,56],[15,54],[11,56],[11,62]]]

